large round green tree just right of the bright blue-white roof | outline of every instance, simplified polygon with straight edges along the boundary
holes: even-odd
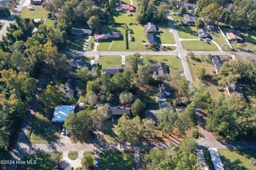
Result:
[[[86,111],[68,114],[64,126],[67,129],[67,133],[71,134],[71,139],[75,142],[90,142],[90,131],[93,124],[90,114]]]

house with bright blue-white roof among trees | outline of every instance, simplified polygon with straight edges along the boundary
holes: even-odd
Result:
[[[61,105],[55,107],[52,122],[65,122],[68,114],[74,112],[75,106]]]

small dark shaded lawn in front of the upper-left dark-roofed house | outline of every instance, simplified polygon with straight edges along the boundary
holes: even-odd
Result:
[[[69,41],[69,50],[73,51],[82,51],[84,42],[85,42],[85,36],[68,36]]]

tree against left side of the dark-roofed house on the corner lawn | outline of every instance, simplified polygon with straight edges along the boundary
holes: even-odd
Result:
[[[146,66],[140,66],[138,70],[137,81],[135,82],[138,87],[146,85],[150,81],[150,73]]]

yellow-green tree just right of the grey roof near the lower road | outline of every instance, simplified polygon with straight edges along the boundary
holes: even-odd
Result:
[[[177,119],[178,115],[172,109],[160,109],[157,113],[158,128],[162,130],[162,133],[170,134],[173,131],[174,123]]]

